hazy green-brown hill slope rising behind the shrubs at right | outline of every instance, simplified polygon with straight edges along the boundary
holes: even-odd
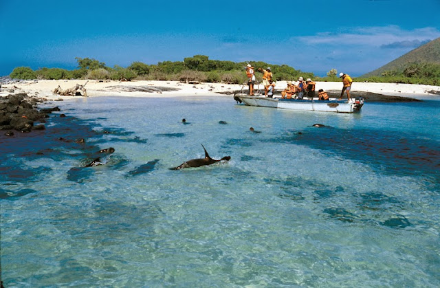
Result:
[[[408,63],[437,63],[440,64],[440,38],[421,45],[414,50],[400,56],[390,63],[375,69],[361,77],[381,76],[384,71],[403,71]]]

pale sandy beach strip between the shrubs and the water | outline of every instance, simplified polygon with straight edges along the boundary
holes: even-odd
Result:
[[[12,93],[28,93],[29,96],[46,98],[47,100],[78,98],[80,96],[54,95],[56,87],[62,89],[74,87],[76,84],[84,85],[87,80],[29,80],[14,83],[3,83],[0,96],[8,96]],[[278,81],[276,89],[284,89],[286,81]],[[124,96],[124,97],[179,97],[179,96],[230,96],[234,91],[241,90],[242,85],[223,83],[200,83],[187,84],[177,81],[131,81],[131,82],[97,82],[89,80],[85,86],[87,96]],[[172,91],[166,91],[166,90]],[[247,90],[247,87],[244,89]],[[263,86],[260,85],[260,89]],[[342,82],[316,82],[316,90],[340,91]],[[141,91],[139,91],[141,90]],[[396,84],[396,83],[370,83],[354,82],[352,95],[356,91],[383,94],[386,96],[438,96],[428,91],[440,91],[440,86]]]

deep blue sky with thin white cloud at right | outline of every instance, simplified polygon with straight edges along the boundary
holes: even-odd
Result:
[[[0,0],[0,76],[197,54],[360,76],[439,38],[439,11],[440,0]]]

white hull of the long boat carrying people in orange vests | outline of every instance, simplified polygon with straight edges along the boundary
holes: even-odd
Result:
[[[296,111],[320,111],[320,112],[336,112],[336,113],[353,113],[360,111],[364,104],[364,100],[298,100],[298,99],[281,99],[267,98],[262,96],[243,96],[235,95],[234,99],[248,106],[270,107],[279,109],[288,109]]]

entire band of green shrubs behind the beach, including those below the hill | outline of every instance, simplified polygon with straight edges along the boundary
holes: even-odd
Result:
[[[107,67],[105,63],[90,58],[76,58],[78,68],[74,70],[60,68],[41,68],[36,71],[30,67],[17,67],[10,74],[14,79],[93,79],[93,80],[177,80],[198,82],[224,82],[243,84],[247,78],[245,67],[248,63],[234,63],[225,60],[210,60],[208,56],[195,55],[184,61],[164,61],[156,65],[133,62],[129,67]],[[252,61],[255,70],[259,67],[271,67],[274,77],[279,80],[296,80],[298,77],[312,78],[318,81],[340,81],[338,71],[331,69],[327,77],[319,78],[313,73],[296,70],[288,65],[272,65],[261,61]],[[256,72],[257,79],[263,74]],[[380,76],[362,76],[353,78],[355,82],[395,82],[426,85],[440,85],[440,64],[410,63],[404,69],[383,71]]]

